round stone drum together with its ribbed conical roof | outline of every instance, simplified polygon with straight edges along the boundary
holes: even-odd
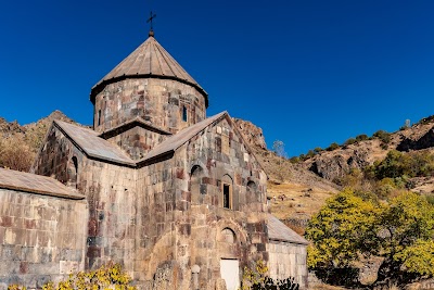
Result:
[[[90,101],[99,133],[140,118],[175,134],[206,118],[208,94],[150,33],[91,89]]]

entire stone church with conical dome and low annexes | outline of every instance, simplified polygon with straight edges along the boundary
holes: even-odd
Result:
[[[240,287],[264,261],[306,289],[307,242],[227,112],[149,38],[90,92],[93,129],[49,128],[33,173],[0,169],[0,289],[120,263],[139,289]]]

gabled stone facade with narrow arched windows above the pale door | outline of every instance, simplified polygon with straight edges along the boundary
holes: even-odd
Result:
[[[226,118],[180,148],[175,159],[176,253],[188,278],[179,289],[191,289],[193,265],[201,268],[200,289],[214,289],[221,279],[221,259],[239,260],[241,280],[244,266],[268,261],[264,172]],[[194,186],[197,166],[202,174]],[[246,198],[248,181],[256,185],[256,200]],[[224,209],[224,182],[231,184],[231,209]]]

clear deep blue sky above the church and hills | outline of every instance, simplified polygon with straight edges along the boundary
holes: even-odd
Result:
[[[208,116],[290,156],[434,114],[434,1],[2,1],[0,116],[92,123],[90,88],[148,37],[209,93]]]

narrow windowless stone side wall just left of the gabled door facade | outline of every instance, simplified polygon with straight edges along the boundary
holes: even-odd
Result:
[[[143,289],[180,289],[176,267],[174,160],[138,169],[135,279]],[[165,288],[165,287],[169,288]],[[158,288],[162,287],[162,288]]]

